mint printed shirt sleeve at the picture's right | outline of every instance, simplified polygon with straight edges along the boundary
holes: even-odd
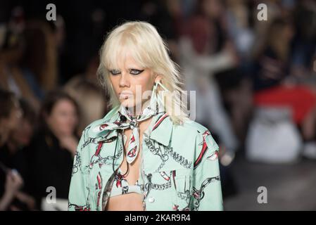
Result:
[[[198,131],[193,173],[193,210],[223,210],[218,150],[210,131]]]

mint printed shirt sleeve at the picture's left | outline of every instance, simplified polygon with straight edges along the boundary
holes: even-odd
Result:
[[[82,148],[84,148],[84,133],[80,138],[75,153],[72,175],[70,181],[70,189],[68,195],[68,211],[86,211],[89,210],[87,205],[86,188],[84,182],[84,174],[82,172]]]

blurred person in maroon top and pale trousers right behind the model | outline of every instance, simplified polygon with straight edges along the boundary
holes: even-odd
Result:
[[[225,31],[225,8],[218,0],[197,2],[196,13],[179,39],[180,65],[187,90],[196,91],[196,121],[211,126],[226,146],[225,165],[234,159],[239,141],[222,103],[215,73],[234,68],[238,57]],[[223,158],[224,159],[224,158]]]

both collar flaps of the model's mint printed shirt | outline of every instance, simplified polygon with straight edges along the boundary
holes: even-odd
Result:
[[[108,112],[107,115],[103,117],[101,124],[105,122],[119,121],[120,114],[118,113],[118,109],[119,107],[117,106],[110,110],[110,112]],[[169,146],[173,127],[170,116],[168,113],[158,113],[158,115],[153,115],[153,121],[154,123],[149,138],[163,144],[164,146]],[[101,124],[96,124],[95,127],[99,127]],[[103,139],[110,139],[113,138],[113,136],[118,136],[118,131],[104,131],[97,134],[97,136],[102,136]]]

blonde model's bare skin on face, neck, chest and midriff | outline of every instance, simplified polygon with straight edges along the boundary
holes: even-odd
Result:
[[[142,68],[132,58],[132,55],[127,51],[124,59],[120,61],[117,67],[109,68],[110,70],[110,82],[121,105],[133,109],[134,115],[141,115],[142,110],[148,103],[148,98],[143,98],[144,91],[151,91],[155,81],[158,81],[162,77],[160,75],[154,75],[153,71],[149,68]],[[137,88],[141,89],[141,96],[137,96]],[[129,94],[126,94],[126,91]],[[124,94],[125,92],[125,94]],[[132,96],[134,98],[132,98]],[[137,107],[140,106],[140,107]],[[139,122],[139,153],[134,162],[129,165],[129,172],[125,176],[129,185],[134,185],[139,179],[139,169],[141,165],[141,143],[143,141],[144,131],[151,123],[152,117],[147,120]],[[128,148],[129,138],[132,134],[132,129],[125,129],[124,134],[127,136],[125,149]],[[126,154],[126,153],[125,153]],[[127,162],[124,155],[122,165],[120,169],[123,174],[127,171]],[[106,210],[143,210],[142,203],[143,196],[139,193],[128,193],[125,195],[117,195],[108,198]]]

